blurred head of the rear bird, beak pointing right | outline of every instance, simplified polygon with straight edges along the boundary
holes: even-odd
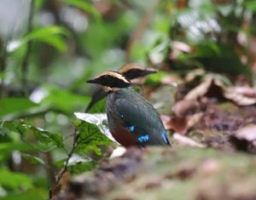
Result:
[[[132,80],[137,77],[144,77],[148,74],[155,73],[158,70],[154,68],[145,68],[137,63],[127,64],[119,69],[119,73],[123,74],[128,79]]]

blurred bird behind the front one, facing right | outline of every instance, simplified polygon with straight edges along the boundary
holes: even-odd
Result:
[[[123,74],[126,78],[131,80],[134,84],[140,84],[143,83],[142,77],[146,77],[148,74],[152,74],[157,72],[157,69],[154,68],[145,68],[137,63],[129,63],[125,66],[122,66],[119,69],[119,73]],[[90,111],[90,109],[96,105],[96,103],[99,100],[102,100],[104,97],[107,96],[107,93],[104,92],[101,88],[96,89],[94,94],[92,95],[92,98],[90,100],[90,103],[85,109],[85,112]]]

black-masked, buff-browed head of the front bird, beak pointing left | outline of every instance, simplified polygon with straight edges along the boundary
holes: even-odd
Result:
[[[87,83],[99,84],[106,92],[131,86],[130,80],[117,71],[104,71],[100,75],[90,78]]]

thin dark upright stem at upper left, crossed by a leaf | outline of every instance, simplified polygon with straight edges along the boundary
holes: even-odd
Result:
[[[28,34],[32,31],[33,11],[34,11],[34,0],[31,0],[26,34]],[[29,60],[29,55],[30,55],[31,49],[32,49],[32,41],[29,41],[29,42],[27,42],[26,53],[25,53],[24,58],[21,63],[21,83],[22,83],[22,87],[23,87],[25,95],[28,94],[26,74],[27,74],[27,66],[28,66],[28,60]]]

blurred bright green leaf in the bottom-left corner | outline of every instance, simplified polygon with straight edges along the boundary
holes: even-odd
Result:
[[[0,185],[10,189],[32,188],[32,179],[26,174],[0,169]]]

